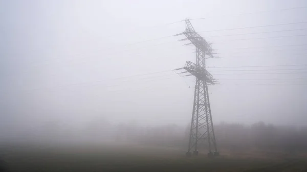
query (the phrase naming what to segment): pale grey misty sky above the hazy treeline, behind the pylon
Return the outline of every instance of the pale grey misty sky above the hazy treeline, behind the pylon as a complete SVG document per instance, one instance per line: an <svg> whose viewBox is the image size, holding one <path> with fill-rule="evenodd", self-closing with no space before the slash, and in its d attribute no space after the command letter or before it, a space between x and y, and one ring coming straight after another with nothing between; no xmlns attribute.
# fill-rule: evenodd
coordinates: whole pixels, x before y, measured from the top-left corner
<svg viewBox="0 0 307 172"><path fill-rule="evenodd" d="M185 18L222 57L206 61L221 82L209 87L214 123L305 125L307 66L242 67L307 64L297 7L307 1L0 1L1 130L102 118L188 125L195 78L170 70L195 50L168 37ZM235 29L274 24L284 25Z"/></svg>

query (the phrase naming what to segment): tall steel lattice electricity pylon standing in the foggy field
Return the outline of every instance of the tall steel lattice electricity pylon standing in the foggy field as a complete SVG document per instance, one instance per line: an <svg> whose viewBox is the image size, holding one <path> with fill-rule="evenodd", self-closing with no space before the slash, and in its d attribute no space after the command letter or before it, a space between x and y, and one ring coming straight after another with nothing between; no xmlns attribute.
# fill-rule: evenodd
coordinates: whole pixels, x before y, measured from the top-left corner
<svg viewBox="0 0 307 172"><path fill-rule="evenodd" d="M182 73L189 72L190 74L187 76L196 77L187 156L191 156L192 149L194 149L193 154L198 155L198 146L204 140L208 141L208 156L218 156L208 93L208 85L215 84L215 82L212 75L206 70L205 61L205 55L213 58L213 50L210 44L195 32L190 20L186 19L185 22L185 32L174 36L185 35L187 38L181 40L190 40L191 42L185 45L193 44L196 48L196 64L188 61L184 67L175 69L185 69L186 71Z"/></svg>

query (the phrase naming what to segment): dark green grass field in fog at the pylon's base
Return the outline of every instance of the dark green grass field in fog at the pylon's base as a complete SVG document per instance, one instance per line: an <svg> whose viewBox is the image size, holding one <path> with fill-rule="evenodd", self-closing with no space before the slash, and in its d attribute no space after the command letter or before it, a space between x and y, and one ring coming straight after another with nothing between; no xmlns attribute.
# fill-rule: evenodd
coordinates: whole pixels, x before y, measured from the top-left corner
<svg viewBox="0 0 307 172"><path fill-rule="evenodd" d="M305 155L221 151L186 157L183 149L140 145L2 146L8 171L307 171ZM2 169L4 171L4 169Z"/></svg>

